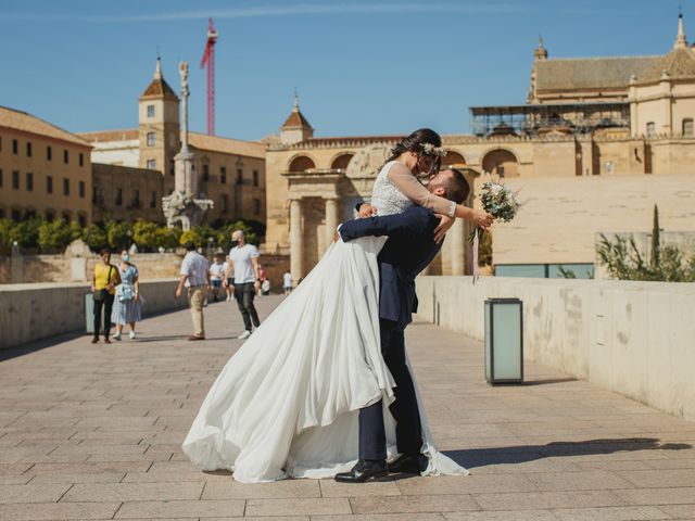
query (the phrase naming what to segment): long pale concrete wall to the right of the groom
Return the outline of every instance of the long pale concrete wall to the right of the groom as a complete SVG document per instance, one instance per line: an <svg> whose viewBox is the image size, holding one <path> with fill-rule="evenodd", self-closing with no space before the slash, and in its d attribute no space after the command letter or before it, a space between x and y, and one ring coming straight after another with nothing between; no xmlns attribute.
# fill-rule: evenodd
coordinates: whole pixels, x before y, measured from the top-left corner
<svg viewBox="0 0 695 521"><path fill-rule="evenodd" d="M523 301L526 357L695 420L695 284L419 277L418 316L483 340L483 303Z"/></svg>

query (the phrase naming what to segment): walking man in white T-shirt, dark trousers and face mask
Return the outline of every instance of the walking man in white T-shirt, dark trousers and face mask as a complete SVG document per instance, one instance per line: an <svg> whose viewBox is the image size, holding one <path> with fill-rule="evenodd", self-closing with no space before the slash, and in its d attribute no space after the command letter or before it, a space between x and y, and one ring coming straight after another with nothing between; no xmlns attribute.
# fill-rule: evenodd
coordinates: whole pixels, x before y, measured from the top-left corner
<svg viewBox="0 0 695 521"><path fill-rule="evenodd" d="M245 236L241 230L231 233L231 250L229 251L229 268L227 277L235 278L235 298L243 318L244 331L238 339L245 340L251 336L254 327L261 326L258 313L253 305L253 298L261 289L258 277L258 257L261 254L253 244L247 244Z"/></svg>

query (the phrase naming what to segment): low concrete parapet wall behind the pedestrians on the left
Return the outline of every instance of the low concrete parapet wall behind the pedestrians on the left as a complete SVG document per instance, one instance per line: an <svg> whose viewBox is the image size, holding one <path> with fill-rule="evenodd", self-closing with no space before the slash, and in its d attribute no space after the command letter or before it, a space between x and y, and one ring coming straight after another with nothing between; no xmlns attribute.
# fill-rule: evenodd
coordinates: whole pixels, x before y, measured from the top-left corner
<svg viewBox="0 0 695 521"><path fill-rule="evenodd" d="M144 316L186 307L176 300L176 279L140 282ZM0 350L85 330L85 293L89 284L38 283L0 285Z"/></svg>

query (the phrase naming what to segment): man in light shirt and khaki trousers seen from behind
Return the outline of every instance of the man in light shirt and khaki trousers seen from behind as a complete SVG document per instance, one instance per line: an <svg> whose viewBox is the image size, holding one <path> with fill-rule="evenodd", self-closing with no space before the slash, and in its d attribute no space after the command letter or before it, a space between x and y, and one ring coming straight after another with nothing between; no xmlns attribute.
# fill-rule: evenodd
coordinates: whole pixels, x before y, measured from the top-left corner
<svg viewBox="0 0 695 521"><path fill-rule="evenodd" d="M181 263L180 278L176 288L176 297L181 296L184 287L188 288L188 302L193 320L193 334L188 340L205 340L205 321L203 319L203 303L210 288L210 263L195 251L192 242L186 243L188 252Z"/></svg>

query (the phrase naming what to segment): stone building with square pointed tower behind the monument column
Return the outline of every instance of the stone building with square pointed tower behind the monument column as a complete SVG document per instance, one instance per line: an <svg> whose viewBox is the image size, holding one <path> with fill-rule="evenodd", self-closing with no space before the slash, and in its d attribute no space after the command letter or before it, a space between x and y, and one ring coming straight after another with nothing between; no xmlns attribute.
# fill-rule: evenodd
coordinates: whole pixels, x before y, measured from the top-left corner
<svg viewBox="0 0 695 521"><path fill-rule="evenodd" d="M164 221L162 196L174 189L174 156L181 145L181 128L179 99L164 79L159 59L154 77L138 100L138 123L137 128L80 135L92 145L92 162L111 165L111 168L99 167L94 196L101 207L97 214L149 219L144 215L156 209L157 218L149 220ZM205 221L250 219L265 223L265 144L198 132L188 136L199 190L214 202L213 208L205 213ZM159 175L161 188L153 182L150 173ZM124 213L125 203L116 204L118 192L105 194L112 190L122 190L121 201L124 198L140 201L140 206ZM155 191L156 208L149 206Z"/></svg>

